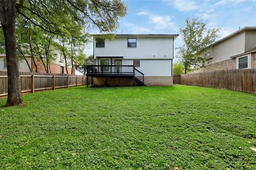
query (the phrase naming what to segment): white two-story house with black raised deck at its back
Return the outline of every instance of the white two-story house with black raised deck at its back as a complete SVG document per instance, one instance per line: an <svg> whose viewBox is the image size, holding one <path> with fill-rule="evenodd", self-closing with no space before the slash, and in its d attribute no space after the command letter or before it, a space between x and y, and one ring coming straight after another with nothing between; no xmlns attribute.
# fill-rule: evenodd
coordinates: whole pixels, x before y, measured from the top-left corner
<svg viewBox="0 0 256 170"><path fill-rule="evenodd" d="M179 35L94 35L93 86L172 85L174 40Z"/></svg>

